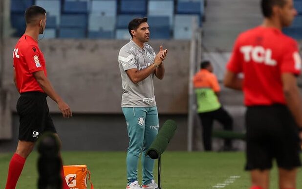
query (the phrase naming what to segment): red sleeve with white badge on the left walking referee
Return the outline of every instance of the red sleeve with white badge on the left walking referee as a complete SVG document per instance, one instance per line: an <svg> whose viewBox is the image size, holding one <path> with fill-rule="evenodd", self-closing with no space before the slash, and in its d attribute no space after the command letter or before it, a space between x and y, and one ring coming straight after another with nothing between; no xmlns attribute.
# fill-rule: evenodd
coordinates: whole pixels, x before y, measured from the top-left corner
<svg viewBox="0 0 302 189"><path fill-rule="evenodd" d="M30 73L43 70L43 67L40 63L40 56L39 47L37 46L32 45L26 50L24 59Z"/></svg>

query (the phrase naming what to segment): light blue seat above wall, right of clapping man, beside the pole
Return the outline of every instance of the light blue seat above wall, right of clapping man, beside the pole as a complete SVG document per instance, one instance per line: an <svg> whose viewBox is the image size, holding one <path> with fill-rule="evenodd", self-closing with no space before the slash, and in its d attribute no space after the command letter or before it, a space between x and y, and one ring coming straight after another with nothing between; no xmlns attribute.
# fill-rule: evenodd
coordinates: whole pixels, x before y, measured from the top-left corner
<svg viewBox="0 0 302 189"><path fill-rule="evenodd" d="M197 23L200 22L199 16L175 15L174 39L191 39L193 18L197 19Z"/></svg>

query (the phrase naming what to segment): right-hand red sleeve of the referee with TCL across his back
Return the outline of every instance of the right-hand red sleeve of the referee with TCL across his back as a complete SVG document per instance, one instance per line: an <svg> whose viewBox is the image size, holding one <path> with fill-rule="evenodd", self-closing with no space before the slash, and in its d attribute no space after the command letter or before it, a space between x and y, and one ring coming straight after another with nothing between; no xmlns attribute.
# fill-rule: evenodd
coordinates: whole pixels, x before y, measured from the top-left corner
<svg viewBox="0 0 302 189"><path fill-rule="evenodd" d="M281 73L294 73L299 75L302 66L301 56L298 50L298 44L295 40L290 40L284 46L283 55L280 62Z"/></svg>

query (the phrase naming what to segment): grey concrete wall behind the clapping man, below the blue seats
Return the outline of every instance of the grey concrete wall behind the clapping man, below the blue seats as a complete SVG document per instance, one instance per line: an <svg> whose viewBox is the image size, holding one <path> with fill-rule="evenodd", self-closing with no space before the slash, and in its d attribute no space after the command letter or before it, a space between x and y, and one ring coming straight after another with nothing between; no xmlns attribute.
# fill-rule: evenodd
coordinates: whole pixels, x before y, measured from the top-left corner
<svg viewBox="0 0 302 189"><path fill-rule="evenodd" d="M0 152L15 150L19 118L19 97L13 83L12 52L18 39L7 38L4 47L3 88L10 94L12 117L11 140L0 141ZM128 41L118 40L41 40L48 77L55 90L70 105L74 115L63 119L50 99L49 108L63 150L126 150L128 144L124 116L121 112L122 82L117 62L120 47ZM154 80L160 125L174 119L178 131L170 150L186 150L190 41L151 40L158 51L169 49L163 80Z"/></svg>

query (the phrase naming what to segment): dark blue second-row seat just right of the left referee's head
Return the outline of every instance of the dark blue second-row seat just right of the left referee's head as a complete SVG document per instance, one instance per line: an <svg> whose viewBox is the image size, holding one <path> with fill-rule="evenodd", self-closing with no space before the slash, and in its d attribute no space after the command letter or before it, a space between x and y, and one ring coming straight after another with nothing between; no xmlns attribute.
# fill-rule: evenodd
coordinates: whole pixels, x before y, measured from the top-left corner
<svg viewBox="0 0 302 189"><path fill-rule="evenodd" d="M60 27L86 28L86 14L63 14L61 16Z"/></svg>

